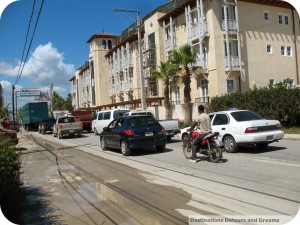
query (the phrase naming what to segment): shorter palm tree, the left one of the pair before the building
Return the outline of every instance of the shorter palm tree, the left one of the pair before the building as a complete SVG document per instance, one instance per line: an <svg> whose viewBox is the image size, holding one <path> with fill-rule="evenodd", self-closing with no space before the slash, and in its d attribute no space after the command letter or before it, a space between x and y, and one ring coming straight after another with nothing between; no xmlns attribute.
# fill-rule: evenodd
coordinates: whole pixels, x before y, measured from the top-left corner
<svg viewBox="0 0 300 225"><path fill-rule="evenodd" d="M169 60L160 62L159 70L153 70L151 76L162 80L164 84L164 104L166 109L166 119L172 118L170 102L170 81L175 81L176 67Z"/></svg>

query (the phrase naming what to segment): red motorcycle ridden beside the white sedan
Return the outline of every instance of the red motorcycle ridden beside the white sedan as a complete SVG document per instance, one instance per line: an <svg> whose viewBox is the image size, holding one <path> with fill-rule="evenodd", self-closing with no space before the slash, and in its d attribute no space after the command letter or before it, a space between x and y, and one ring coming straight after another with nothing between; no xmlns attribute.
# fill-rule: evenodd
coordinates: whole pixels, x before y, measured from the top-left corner
<svg viewBox="0 0 300 225"><path fill-rule="evenodd" d="M199 132L191 131L189 136L183 138L183 154L187 159L192 158L192 144L195 138L198 136ZM222 159L222 146L218 141L219 132L209 132L202 139L198 151L200 153L208 156L210 162L218 163Z"/></svg>

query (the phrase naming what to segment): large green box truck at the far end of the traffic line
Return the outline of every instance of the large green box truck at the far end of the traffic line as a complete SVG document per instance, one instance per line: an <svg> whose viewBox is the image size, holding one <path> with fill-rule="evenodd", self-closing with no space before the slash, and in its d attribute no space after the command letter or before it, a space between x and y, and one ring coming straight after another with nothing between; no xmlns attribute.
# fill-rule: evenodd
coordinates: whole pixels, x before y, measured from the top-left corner
<svg viewBox="0 0 300 225"><path fill-rule="evenodd" d="M39 123L49 118L47 102L29 102L22 107L22 124L27 131L38 131Z"/></svg>

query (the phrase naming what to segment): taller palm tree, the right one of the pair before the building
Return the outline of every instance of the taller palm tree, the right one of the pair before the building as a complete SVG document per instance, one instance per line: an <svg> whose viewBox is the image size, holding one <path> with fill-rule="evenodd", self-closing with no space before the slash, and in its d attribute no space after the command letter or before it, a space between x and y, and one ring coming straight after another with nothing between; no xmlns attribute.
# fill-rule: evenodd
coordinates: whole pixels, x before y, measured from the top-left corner
<svg viewBox="0 0 300 225"><path fill-rule="evenodd" d="M202 72L201 67L194 66L197 61L198 51L193 50L189 44L185 44L173 50L171 62L176 65L177 72L184 84L184 123L188 124L192 120L191 108L191 77L194 72Z"/></svg>

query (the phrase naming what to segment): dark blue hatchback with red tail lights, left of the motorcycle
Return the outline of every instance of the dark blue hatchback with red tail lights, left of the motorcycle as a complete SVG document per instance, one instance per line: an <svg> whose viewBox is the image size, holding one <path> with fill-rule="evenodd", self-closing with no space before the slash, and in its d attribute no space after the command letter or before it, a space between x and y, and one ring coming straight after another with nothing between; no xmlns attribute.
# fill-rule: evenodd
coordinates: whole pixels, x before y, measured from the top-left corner
<svg viewBox="0 0 300 225"><path fill-rule="evenodd" d="M107 148L121 149L128 156L132 149L155 146L157 151L164 151L167 144L165 129L153 116L123 116L104 127L100 134L100 145Z"/></svg>

